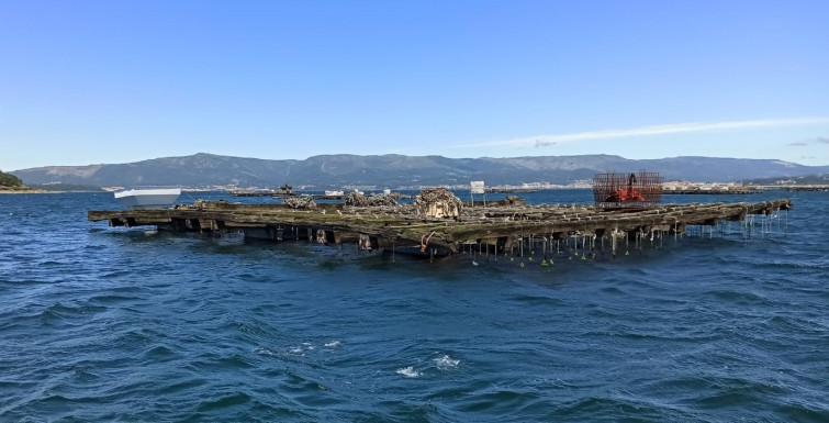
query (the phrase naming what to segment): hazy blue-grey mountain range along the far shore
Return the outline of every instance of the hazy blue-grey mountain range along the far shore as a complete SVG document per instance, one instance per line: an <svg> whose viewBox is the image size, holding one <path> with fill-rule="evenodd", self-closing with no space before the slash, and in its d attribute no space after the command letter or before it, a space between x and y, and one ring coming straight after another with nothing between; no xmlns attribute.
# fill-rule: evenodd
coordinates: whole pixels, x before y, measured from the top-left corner
<svg viewBox="0 0 829 423"><path fill-rule="evenodd" d="M765 159L673 157L634 160L610 155L511 158L447 158L441 156L313 156L304 160L268 160L199 153L127 164L48 166L15 170L26 185L89 187L276 188L283 183L316 189L347 186L402 188L549 182L569 185L592 180L596 172L658 171L665 180L733 182L757 178L829 174L829 166L803 166Z"/></svg>

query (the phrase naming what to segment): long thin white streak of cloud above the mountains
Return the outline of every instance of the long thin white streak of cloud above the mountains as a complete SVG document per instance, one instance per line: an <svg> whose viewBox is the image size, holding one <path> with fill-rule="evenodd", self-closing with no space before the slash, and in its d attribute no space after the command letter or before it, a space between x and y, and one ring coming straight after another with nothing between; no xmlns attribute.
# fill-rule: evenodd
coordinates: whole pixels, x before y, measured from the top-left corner
<svg viewBox="0 0 829 423"><path fill-rule="evenodd" d="M731 122L673 123L673 124L668 124L668 125L641 126L641 127L635 127L635 129L629 129L629 130L606 130L606 131L578 132L573 134L536 135L536 136L528 136L528 137L523 137L523 138L495 141L495 142L490 142L490 143L466 144L466 145L459 145L458 147L526 147L526 146L545 147L549 145L554 145L554 144L560 144L560 143L571 143L571 142L578 142L578 141L623 138L623 137L629 137L629 136L648 136L648 135L755 129L755 127L770 127L770 126L796 126L796 125L807 125L807 124L816 124L816 123L829 123L829 118L795 118L795 119L766 119L766 120L731 121Z"/></svg>

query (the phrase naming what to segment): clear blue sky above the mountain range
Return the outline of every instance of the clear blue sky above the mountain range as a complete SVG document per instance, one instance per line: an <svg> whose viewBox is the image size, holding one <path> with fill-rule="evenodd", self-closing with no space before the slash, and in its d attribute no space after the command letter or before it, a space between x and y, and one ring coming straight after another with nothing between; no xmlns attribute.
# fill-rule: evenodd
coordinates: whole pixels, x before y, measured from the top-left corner
<svg viewBox="0 0 829 423"><path fill-rule="evenodd" d="M4 1L0 169L194 153L829 165L829 1Z"/></svg>

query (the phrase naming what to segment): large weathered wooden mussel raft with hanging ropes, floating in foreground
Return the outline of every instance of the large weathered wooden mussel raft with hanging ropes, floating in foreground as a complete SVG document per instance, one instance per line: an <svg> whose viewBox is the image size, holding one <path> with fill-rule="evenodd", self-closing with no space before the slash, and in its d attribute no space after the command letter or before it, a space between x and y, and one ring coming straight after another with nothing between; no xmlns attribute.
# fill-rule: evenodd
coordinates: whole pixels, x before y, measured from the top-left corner
<svg viewBox="0 0 829 423"><path fill-rule="evenodd" d="M422 254L446 254L464 246L486 245L500 253L523 240L634 238L643 234L683 234L688 225L744 221L753 214L773 215L791 210L789 199L758 203L660 204L608 209L586 204L466 207L458 219L427 219L412 204L358 208L320 204L295 210L284 204L238 204L197 201L172 209L89 211L90 221L110 226L153 225L177 232L243 232L246 238L312 240L358 243L362 249L408 248ZM594 237L595 236L595 237ZM428 252L428 253L427 253Z"/></svg>

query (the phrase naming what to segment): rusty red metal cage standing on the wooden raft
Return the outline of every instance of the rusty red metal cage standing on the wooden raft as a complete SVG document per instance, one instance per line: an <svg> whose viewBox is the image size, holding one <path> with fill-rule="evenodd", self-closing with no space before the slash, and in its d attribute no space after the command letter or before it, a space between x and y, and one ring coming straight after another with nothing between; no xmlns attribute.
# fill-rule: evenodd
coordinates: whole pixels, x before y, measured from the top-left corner
<svg viewBox="0 0 829 423"><path fill-rule="evenodd" d="M600 207L645 207L662 201L662 177L659 172L596 174L593 198Z"/></svg>

